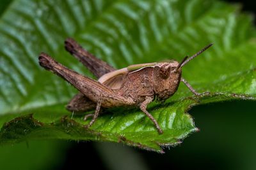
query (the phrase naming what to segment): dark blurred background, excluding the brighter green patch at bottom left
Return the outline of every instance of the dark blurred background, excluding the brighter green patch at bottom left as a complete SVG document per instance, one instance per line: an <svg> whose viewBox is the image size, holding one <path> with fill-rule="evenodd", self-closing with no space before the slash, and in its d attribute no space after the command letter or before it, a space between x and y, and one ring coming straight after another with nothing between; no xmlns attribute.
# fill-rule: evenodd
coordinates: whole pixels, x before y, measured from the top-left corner
<svg viewBox="0 0 256 170"><path fill-rule="evenodd" d="M242 4L243 12L255 16L255 1L228 2ZM163 155L115 143L72 143L60 169L91 162L99 162L93 169L256 169L255 102L207 104L189 113L201 131L165 148Z"/></svg>

